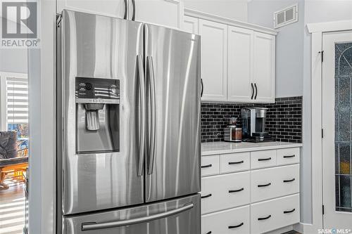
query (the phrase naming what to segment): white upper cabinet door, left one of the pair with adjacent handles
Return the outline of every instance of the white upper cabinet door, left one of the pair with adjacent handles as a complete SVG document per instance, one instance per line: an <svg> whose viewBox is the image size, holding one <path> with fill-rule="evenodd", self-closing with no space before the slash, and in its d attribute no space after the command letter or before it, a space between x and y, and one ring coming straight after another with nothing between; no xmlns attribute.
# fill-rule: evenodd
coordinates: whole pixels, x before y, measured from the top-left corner
<svg viewBox="0 0 352 234"><path fill-rule="evenodd" d="M227 33L227 100L251 102L253 30L229 26Z"/></svg>

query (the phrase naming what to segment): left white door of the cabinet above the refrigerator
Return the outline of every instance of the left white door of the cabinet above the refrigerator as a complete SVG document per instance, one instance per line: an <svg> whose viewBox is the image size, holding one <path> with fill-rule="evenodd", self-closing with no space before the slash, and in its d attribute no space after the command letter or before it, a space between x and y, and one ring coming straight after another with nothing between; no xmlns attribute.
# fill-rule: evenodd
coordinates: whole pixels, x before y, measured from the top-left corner
<svg viewBox="0 0 352 234"><path fill-rule="evenodd" d="M127 2L127 5L128 5L128 2ZM69 9L73 11L83 11L86 13L123 18L123 16L125 15L125 1L124 0L116 0L116 1L57 0L58 13L61 13L63 9Z"/></svg>

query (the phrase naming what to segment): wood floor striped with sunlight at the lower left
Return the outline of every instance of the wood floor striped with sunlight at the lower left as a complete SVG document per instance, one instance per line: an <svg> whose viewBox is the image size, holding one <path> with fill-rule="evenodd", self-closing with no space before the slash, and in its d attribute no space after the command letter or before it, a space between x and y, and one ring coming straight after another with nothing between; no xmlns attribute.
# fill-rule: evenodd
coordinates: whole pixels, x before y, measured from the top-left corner
<svg viewBox="0 0 352 234"><path fill-rule="evenodd" d="M22 234L25 219L23 183L11 178L5 183L10 188L0 190L0 234Z"/></svg>

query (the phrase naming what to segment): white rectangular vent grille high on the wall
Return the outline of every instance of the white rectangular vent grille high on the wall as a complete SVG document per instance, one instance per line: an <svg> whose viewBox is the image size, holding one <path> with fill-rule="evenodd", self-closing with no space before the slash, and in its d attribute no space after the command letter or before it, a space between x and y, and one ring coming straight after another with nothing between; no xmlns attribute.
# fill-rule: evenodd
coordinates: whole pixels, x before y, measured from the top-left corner
<svg viewBox="0 0 352 234"><path fill-rule="evenodd" d="M289 6L274 13L274 28L290 25L298 21L298 4Z"/></svg>

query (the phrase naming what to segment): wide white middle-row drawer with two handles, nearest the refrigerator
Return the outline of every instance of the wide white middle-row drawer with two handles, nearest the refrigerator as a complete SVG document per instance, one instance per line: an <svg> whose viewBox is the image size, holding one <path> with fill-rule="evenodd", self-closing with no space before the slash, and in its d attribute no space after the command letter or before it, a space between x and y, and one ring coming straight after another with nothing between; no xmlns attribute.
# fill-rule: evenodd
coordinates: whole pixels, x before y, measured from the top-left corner
<svg viewBox="0 0 352 234"><path fill-rule="evenodd" d="M201 178L202 214L250 202L249 171Z"/></svg>

